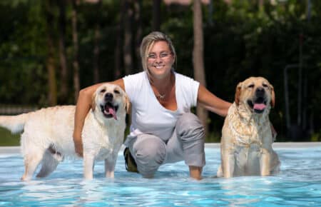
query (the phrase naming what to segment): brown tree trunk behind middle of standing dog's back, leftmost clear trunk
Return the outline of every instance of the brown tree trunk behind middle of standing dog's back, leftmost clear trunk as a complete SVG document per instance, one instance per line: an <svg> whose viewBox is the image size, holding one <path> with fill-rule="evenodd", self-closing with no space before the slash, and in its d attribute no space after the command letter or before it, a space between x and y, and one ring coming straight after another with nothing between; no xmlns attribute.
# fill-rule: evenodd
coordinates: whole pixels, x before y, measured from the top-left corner
<svg viewBox="0 0 321 207"><path fill-rule="evenodd" d="M52 25L54 23L54 14L51 8L53 7L51 0L45 2L46 6L46 32L47 32L47 59L46 66L48 70L48 82L49 82L49 106L55 106L57 104L57 84L56 84L56 69L54 65L54 40L52 37L53 30Z"/></svg>

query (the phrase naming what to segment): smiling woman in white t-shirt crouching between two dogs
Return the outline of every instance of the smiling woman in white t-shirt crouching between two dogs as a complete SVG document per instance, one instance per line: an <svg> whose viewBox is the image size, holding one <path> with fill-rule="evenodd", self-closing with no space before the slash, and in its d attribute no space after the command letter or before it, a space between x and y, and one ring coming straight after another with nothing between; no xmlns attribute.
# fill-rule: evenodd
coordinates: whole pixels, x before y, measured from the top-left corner
<svg viewBox="0 0 321 207"><path fill-rule="evenodd" d="M165 34L152 32L141 43L143 72L111 82L131 100L131 133L124 143L143 177L151 178L164 163L185 161L190 177L201 178L205 165L204 130L190 107L200 104L226 116L230 103L219 99L197 81L175 73L175 49ZM81 131L100 84L79 93L73 140L82 156Z"/></svg>

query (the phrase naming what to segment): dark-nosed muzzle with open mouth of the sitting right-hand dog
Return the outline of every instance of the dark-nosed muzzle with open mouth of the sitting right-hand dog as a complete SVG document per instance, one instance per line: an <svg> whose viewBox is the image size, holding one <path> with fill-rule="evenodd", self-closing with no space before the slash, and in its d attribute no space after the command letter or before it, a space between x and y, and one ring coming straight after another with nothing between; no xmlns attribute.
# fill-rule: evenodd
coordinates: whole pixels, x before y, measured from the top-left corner
<svg viewBox="0 0 321 207"><path fill-rule="evenodd" d="M255 113L263 113L267 106L265 89L261 87L256 89L254 99L248 99L248 106L253 108Z"/></svg>

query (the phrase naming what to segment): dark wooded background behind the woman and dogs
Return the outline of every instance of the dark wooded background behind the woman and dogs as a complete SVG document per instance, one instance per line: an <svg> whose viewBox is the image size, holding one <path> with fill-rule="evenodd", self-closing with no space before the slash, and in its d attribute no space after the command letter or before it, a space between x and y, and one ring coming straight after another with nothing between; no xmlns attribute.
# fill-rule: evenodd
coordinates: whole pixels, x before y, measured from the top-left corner
<svg viewBox="0 0 321 207"><path fill-rule="evenodd" d="M175 70L222 99L248 76L268 79L277 141L321 141L317 0L1 0L0 114L75 104L83 87L141 71L155 30L172 39ZM223 118L193 111L220 141ZM0 128L0 145L18 144Z"/></svg>

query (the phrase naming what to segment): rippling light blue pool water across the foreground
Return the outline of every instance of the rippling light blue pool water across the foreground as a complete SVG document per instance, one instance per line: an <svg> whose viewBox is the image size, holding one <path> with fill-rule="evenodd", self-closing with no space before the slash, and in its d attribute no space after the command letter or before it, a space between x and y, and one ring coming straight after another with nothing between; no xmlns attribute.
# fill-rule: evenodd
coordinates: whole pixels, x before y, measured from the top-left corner
<svg viewBox="0 0 321 207"><path fill-rule="evenodd" d="M128 173L122 152L115 178L83 180L81 161L63 161L47 178L21 182L19 154L0 156L0 206L321 206L321 148L275 148L277 176L215 178L218 148L205 148L204 179L188 178L183 162L161 166L153 179Z"/></svg>

